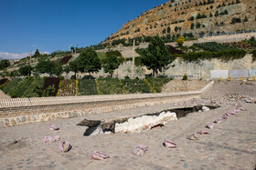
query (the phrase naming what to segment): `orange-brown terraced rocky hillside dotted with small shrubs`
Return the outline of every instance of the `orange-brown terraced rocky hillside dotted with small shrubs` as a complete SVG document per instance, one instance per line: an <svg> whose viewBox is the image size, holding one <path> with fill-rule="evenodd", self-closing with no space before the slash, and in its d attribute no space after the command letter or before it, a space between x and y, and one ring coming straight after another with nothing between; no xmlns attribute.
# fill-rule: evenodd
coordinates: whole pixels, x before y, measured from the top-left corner
<svg viewBox="0 0 256 170"><path fill-rule="evenodd" d="M195 36L256 29L255 0L171 0L123 25L104 43L133 36Z"/></svg>

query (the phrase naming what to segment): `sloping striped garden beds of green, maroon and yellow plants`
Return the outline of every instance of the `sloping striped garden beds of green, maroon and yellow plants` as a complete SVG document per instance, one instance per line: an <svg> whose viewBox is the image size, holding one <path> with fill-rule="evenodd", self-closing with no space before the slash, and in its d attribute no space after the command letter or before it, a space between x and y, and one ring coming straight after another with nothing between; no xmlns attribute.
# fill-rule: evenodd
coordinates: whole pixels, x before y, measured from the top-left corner
<svg viewBox="0 0 256 170"><path fill-rule="evenodd" d="M161 93L170 78L117 79L66 79L56 77L27 77L5 80L1 89L11 97L74 96L74 95L119 95Z"/></svg>

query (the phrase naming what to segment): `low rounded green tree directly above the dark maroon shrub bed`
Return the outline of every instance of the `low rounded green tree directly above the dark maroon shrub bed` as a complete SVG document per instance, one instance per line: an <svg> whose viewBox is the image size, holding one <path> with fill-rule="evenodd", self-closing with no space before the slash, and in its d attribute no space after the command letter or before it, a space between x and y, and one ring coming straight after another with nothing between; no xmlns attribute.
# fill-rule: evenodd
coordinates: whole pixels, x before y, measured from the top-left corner
<svg viewBox="0 0 256 170"><path fill-rule="evenodd" d="M45 74L53 75L55 69L55 65L50 60L42 60L40 59L39 62L36 65L36 71L39 74Z"/></svg>

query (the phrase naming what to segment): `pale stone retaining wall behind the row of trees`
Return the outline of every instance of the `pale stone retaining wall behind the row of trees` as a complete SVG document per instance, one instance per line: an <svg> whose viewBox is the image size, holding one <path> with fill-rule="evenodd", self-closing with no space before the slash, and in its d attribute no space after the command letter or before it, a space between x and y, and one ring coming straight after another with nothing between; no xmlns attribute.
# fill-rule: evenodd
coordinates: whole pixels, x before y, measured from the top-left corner
<svg viewBox="0 0 256 170"><path fill-rule="evenodd" d="M208 79L210 78L210 72L211 70L253 70L256 69L256 62L252 63L252 55L248 54L245 55L243 58L238 60L233 60L229 62L223 62L218 59L212 59L210 61L204 60L200 63L187 63L182 61L181 59L176 59L172 65L175 65L174 67L170 66L168 70L165 70L165 75L173 76L173 77L179 77L182 78L183 75L188 75L189 78L198 79L198 78L204 78ZM132 62L126 62L123 65L120 65L118 69L115 70L113 76L123 78L126 75L131 76L131 67ZM136 67L135 68L135 77L144 78L145 74L151 74L151 70L147 70L146 67ZM163 73L164 74L164 73ZM73 74L69 74L73 75ZM79 74L79 77L82 77L84 75L88 74ZM99 74L93 74L95 77L99 76L107 76L108 74L105 74L103 72L103 69L101 69Z"/></svg>

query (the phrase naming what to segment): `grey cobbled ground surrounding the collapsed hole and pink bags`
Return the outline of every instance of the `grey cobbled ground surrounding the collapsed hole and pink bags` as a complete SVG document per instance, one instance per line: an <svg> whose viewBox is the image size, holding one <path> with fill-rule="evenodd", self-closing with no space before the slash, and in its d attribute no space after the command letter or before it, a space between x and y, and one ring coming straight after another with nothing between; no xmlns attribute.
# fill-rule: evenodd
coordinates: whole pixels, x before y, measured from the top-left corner
<svg viewBox="0 0 256 170"><path fill-rule="evenodd" d="M256 86L217 84L202 98L239 93L256 96ZM200 100L204 103L206 100ZM85 117L76 117L31 125L0 129L0 169L254 169L256 165L256 104L240 102L247 111L240 111L211 130L205 125L235 108L238 101L228 102L215 110L192 113L163 128L155 128L133 135L83 136L85 127L77 126ZM88 119L108 119L113 116L150 113L171 105L138 108L123 113L87 115ZM60 130L49 131L48 124ZM199 135L191 141L187 135L198 130L208 130L209 135ZM46 135L59 135L72 145L68 153L59 151L59 142L44 144ZM163 146L165 138L176 143L170 149ZM17 141L14 143L14 141ZM132 154L133 148L143 144L148 151L143 156ZM100 150L111 155L109 159L91 159L92 152Z"/></svg>

